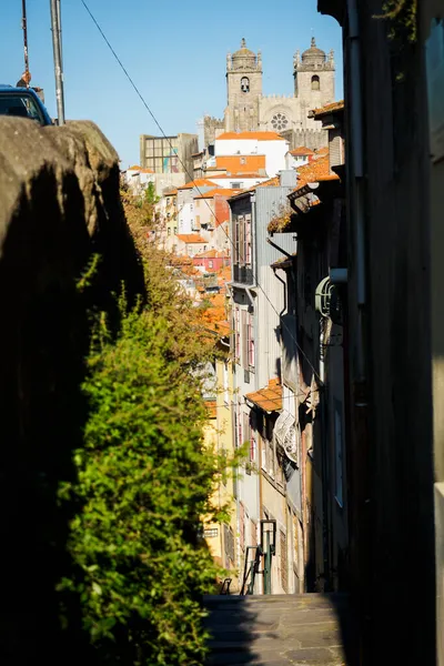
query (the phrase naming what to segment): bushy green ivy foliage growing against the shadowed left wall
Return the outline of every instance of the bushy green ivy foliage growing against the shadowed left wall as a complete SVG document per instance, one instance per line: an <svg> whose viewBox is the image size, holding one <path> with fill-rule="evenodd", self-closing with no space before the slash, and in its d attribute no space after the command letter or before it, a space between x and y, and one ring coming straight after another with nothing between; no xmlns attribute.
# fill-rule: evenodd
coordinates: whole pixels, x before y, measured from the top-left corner
<svg viewBox="0 0 444 666"><path fill-rule="evenodd" d="M74 573L59 592L67 608L81 599L95 663L198 666L205 655L201 597L219 573L201 517L224 517L210 497L226 465L204 445L202 377L193 372L211 345L162 254L143 250L137 221L147 229L145 204L128 199L124 206L148 302L129 311L122 296L117 332L104 314L97 317L78 478L59 493L61 504L78 507L68 544Z"/></svg>

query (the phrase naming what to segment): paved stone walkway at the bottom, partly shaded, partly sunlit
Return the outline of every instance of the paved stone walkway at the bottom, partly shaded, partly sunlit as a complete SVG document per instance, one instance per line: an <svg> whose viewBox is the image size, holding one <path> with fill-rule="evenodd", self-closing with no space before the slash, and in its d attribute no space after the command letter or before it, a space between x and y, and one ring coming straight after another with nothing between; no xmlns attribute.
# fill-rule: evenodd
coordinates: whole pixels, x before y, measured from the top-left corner
<svg viewBox="0 0 444 666"><path fill-rule="evenodd" d="M355 666L345 595L208 596L208 666Z"/></svg>

